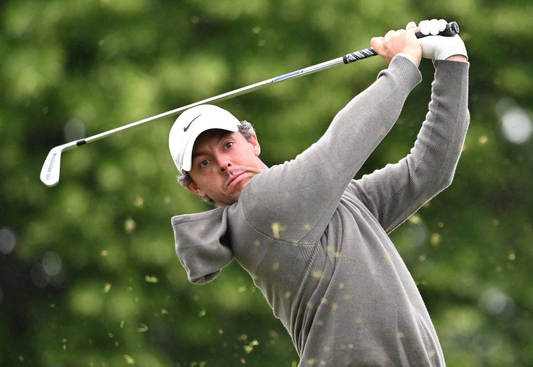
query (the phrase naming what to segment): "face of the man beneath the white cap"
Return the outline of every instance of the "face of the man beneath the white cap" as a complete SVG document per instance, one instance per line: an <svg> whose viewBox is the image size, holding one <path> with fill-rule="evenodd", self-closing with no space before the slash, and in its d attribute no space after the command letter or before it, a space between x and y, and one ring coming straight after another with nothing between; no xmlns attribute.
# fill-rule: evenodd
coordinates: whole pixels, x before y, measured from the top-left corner
<svg viewBox="0 0 533 367"><path fill-rule="evenodd" d="M240 132L207 130L199 135L192 149L189 175L191 192L208 196L219 205L231 205L240 192L266 166L259 159L261 148L254 134L250 141Z"/></svg>

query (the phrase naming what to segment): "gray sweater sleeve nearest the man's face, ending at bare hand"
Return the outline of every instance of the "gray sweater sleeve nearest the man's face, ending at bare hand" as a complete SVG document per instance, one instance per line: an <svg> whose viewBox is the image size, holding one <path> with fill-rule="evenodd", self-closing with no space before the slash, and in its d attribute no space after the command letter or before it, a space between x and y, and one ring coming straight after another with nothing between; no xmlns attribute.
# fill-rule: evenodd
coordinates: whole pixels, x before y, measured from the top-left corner
<svg viewBox="0 0 533 367"><path fill-rule="evenodd" d="M324 135L295 159L256 175L239 201L249 224L280 241L316 243L354 175L390 131L421 81L395 57L376 82L352 99Z"/></svg>

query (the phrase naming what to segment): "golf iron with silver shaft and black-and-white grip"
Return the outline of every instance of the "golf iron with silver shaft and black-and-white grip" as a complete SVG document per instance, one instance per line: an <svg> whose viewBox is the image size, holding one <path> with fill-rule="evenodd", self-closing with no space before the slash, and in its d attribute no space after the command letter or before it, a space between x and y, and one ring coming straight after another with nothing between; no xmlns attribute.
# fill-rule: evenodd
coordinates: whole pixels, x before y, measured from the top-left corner
<svg viewBox="0 0 533 367"><path fill-rule="evenodd" d="M450 22L446 25L446 29L441 31L439 35L453 36L458 33L459 33L459 26L457 25L457 23ZM422 33L417 33L416 37L422 38L422 37L425 37L425 35L423 35ZM195 102L195 103L191 103L190 105L179 107L179 108L167 111L165 113L161 113L159 115L144 118L142 120L133 122L131 124L117 127L116 129L112 129L112 130L105 131L105 132L102 132L96 135L92 135L91 137L88 137L85 139L75 140L75 141L65 143L63 145L56 146L52 148L52 150L50 150L50 153L48 154L48 156L46 157L44 161L43 168L41 170L41 181L43 181L43 184L45 184L46 186L55 186L58 184L59 169L60 169L60 164L61 164L61 153L63 153L63 151L70 150L70 149L85 145L86 143L90 143L95 140L108 137L109 135L115 134L117 132L130 129L130 127L134 127L134 126L138 126L138 125L141 125L147 122L155 121L163 117L175 116L186 109L189 109L189 108L192 108L198 105L204 105L205 103L212 103L215 101L222 101L224 99L237 97L237 95L255 91L266 85L270 85L270 84L285 81L288 79L316 73L317 71L324 70L324 69L327 69L333 66L341 65L342 63L348 64L348 63L352 63L358 60L367 59L375 55L377 55L377 53L372 49L372 47L369 47L368 49L346 54L340 58L318 63L317 65L313 65L313 66L310 66L310 67L307 67L301 70L293 71L292 73L280 75L278 77L271 78L271 79L266 79L265 81L251 84L245 87L241 87L231 92L219 94L219 95L216 95L215 97L211 97L211 98L207 98L207 99Z"/></svg>

